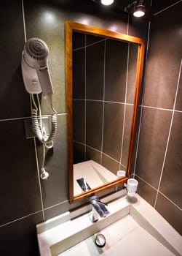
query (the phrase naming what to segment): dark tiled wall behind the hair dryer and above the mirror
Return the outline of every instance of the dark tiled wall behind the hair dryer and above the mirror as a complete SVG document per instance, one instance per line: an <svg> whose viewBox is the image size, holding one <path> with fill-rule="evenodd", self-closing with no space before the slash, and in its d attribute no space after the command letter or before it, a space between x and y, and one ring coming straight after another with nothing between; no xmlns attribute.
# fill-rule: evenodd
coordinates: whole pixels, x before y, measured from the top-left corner
<svg viewBox="0 0 182 256"><path fill-rule="evenodd" d="M68 3L68 5L67 5ZM146 39L148 22L129 19L95 3L83 1L7 0L0 4L0 252L1 255L39 255L36 224L76 207L68 203L67 126L65 88L65 21L88 23ZM94 15L92 15L94 13ZM20 70L25 40L40 37L50 48L50 73L58 111L58 134L47 153L47 181L40 181L42 148L25 138L24 121L31 116L31 102ZM51 113L41 100L42 113ZM81 202L82 203L82 202Z"/></svg>

